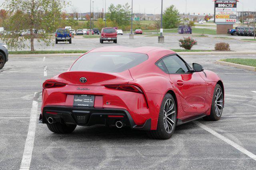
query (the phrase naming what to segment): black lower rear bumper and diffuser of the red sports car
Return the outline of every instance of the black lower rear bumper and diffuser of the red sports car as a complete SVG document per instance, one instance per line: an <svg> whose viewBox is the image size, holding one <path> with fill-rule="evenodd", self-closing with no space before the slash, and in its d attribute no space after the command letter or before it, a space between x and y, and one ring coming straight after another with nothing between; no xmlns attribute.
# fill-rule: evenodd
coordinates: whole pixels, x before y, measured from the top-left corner
<svg viewBox="0 0 256 170"><path fill-rule="evenodd" d="M42 114L40 114L39 122L47 123L48 117L52 117L54 123L91 126L115 125L116 121L122 121L132 129L151 129L151 119L147 119L143 125L136 125L126 109L52 105L44 107Z"/></svg>

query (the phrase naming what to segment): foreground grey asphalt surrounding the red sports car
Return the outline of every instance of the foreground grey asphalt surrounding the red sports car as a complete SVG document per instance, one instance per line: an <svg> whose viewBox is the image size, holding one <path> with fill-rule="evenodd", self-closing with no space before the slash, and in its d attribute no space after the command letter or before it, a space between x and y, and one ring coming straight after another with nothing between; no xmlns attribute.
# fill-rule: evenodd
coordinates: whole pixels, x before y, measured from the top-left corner
<svg viewBox="0 0 256 170"><path fill-rule="evenodd" d="M222 78L224 111L220 121L176 127L165 141L148 139L143 131L99 125L77 127L68 135L50 132L37 118L42 82L64 72L77 57L10 58L0 70L0 168L28 168L31 160L31 169L254 169L256 72L214 63L230 57L256 55L183 56Z"/></svg>

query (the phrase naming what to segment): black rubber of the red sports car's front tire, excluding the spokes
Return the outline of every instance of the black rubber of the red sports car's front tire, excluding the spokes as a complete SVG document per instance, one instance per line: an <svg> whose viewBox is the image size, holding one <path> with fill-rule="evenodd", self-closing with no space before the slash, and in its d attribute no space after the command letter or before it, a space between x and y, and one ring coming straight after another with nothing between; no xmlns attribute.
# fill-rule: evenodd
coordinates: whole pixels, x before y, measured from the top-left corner
<svg viewBox="0 0 256 170"><path fill-rule="evenodd" d="M221 92L222 92L222 109L221 109L221 113L218 115L218 113L216 113L216 93L217 93L217 90L218 89L221 89ZM214 94L213 94L213 97L212 97L212 106L211 106L211 113L210 115L204 117L204 120L207 120L207 121L217 121L220 119L221 115L222 115L222 110L223 110L223 89L221 88L221 86L219 84L216 84L215 88L214 88Z"/></svg>

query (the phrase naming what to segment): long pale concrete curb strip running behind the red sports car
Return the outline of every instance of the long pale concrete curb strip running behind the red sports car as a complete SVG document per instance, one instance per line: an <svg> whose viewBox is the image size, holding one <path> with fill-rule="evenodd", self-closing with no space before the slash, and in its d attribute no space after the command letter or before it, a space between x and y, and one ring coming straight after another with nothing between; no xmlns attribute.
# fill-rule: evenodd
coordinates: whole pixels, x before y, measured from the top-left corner
<svg viewBox="0 0 256 170"><path fill-rule="evenodd" d="M10 54L12 57L80 57L84 53L58 53L58 54ZM256 54L256 50L252 51L205 51L205 52L178 52L179 55L243 55Z"/></svg>

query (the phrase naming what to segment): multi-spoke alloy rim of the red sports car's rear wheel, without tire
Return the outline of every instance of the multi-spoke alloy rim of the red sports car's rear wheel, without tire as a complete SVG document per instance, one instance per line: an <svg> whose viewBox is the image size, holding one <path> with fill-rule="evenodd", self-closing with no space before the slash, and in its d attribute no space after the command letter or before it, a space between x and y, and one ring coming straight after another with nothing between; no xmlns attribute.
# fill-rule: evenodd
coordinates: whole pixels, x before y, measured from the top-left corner
<svg viewBox="0 0 256 170"><path fill-rule="evenodd" d="M172 133L176 123L176 109L172 99L167 99L164 104L164 129Z"/></svg>

